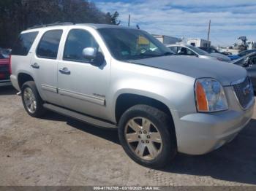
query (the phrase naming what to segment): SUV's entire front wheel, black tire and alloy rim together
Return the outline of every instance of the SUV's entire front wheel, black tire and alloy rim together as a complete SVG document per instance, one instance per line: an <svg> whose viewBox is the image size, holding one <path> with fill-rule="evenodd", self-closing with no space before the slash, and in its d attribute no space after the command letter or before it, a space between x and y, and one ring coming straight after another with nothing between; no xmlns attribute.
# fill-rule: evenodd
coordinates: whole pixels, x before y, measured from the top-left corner
<svg viewBox="0 0 256 191"><path fill-rule="evenodd" d="M127 109L118 123L118 137L127 155L149 168L164 167L177 152L173 122L165 112L152 106Z"/></svg>

